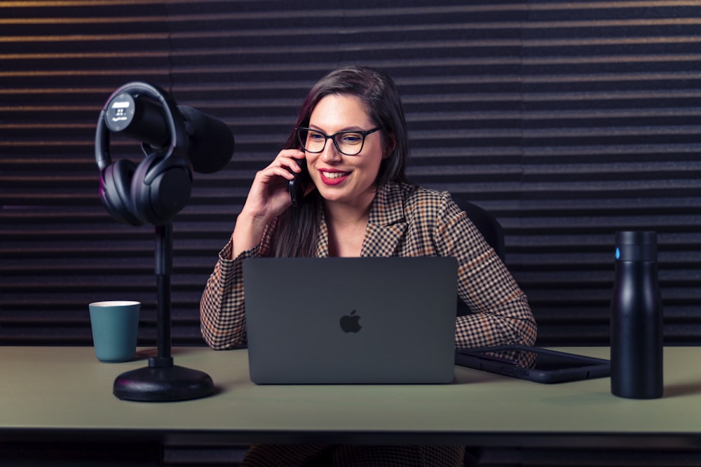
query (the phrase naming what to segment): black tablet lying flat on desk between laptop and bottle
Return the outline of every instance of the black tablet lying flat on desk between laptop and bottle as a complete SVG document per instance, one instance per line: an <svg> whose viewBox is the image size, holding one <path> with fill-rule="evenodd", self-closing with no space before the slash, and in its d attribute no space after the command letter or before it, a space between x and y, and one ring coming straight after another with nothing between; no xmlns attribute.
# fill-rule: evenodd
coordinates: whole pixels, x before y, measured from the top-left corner
<svg viewBox="0 0 701 467"><path fill-rule="evenodd" d="M455 363L538 383L611 376L611 362L603 358L523 345L458 349Z"/></svg>

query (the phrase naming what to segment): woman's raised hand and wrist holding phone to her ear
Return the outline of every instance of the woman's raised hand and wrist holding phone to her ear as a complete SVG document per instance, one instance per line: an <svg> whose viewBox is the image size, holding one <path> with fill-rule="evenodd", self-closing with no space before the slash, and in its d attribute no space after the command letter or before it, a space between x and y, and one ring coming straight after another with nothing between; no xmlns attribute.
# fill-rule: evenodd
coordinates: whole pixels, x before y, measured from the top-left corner
<svg viewBox="0 0 701 467"><path fill-rule="evenodd" d="M257 172L233 230L232 258L260 243L265 226L292 206L287 183L301 172L304 152L283 149L268 167Z"/></svg>

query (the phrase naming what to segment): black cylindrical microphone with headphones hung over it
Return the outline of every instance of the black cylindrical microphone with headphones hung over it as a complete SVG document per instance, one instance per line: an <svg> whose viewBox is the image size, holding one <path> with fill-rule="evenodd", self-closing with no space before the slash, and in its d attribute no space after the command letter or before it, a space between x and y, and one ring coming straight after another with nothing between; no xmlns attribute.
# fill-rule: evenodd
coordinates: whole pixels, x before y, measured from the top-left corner
<svg viewBox="0 0 701 467"><path fill-rule="evenodd" d="M153 148L170 143L163 109L147 97L121 92L106 109L104 122L112 132L122 132ZM188 136L187 158L192 169L200 174L213 174L226 167L234 149L233 134L226 123L192 107L177 106L177 110Z"/></svg>

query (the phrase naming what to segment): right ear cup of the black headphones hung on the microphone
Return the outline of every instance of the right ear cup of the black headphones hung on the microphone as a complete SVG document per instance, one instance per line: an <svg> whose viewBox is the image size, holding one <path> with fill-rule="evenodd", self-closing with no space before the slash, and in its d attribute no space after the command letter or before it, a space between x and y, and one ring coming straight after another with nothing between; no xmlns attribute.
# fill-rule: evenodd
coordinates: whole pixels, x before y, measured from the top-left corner
<svg viewBox="0 0 701 467"><path fill-rule="evenodd" d="M192 190L192 175L186 165L163 162L163 156L150 155L137 167L130 197L135 213L143 223L164 225L186 206ZM157 174L151 172L158 171ZM146 183L147 177L153 179Z"/></svg>

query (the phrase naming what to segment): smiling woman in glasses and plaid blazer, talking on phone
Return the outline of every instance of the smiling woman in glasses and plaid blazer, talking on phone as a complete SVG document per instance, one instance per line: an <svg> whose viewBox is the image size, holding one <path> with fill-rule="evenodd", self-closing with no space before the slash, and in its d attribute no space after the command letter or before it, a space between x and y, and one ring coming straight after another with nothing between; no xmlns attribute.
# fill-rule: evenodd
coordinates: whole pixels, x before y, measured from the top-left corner
<svg viewBox="0 0 701 467"><path fill-rule="evenodd" d="M404 112L388 75L343 67L322 78L283 151L256 174L219 253L200 303L207 344L229 349L245 342L242 267L252 256L454 256L457 292L472 311L456 319L456 347L533 344L536 323L526 296L448 193L407 183L408 155ZM291 207L287 183L302 171L302 160L311 183L299 207ZM295 459L304 463L320 452L308 449L299 447L304 454ZM332 454L341 463L346 455L358 458L358 449ZM391 449L399 449L395 459L408 449L407 459L426 465L448 465L461 456L457 447ZM287 465L291 450L283 449L290 454ZM250 461L277 452L255 451Z"/></svg>

